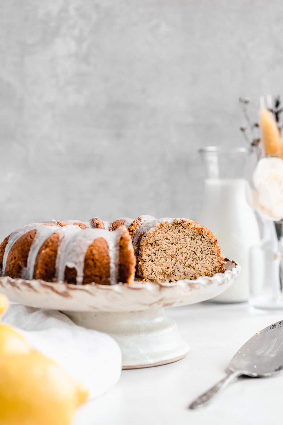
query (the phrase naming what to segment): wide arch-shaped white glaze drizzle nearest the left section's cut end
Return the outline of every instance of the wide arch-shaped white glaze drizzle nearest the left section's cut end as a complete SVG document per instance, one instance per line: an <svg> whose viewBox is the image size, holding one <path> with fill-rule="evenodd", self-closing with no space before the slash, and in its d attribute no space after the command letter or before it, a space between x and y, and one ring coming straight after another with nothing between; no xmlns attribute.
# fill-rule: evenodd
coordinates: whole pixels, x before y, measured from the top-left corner
<svg viewBox="0 0 283 425"><path fill-rule="evenodd" d="M63 228L64 229L64 228ZM62 229L62 230L63 230ZM118 279L118 263L119 263L119 241L125 228L119 227L114 232L108 232L104 229L86 229L83 232L76 232L73 235L64 235L61 244L62 248L58 249L59 261L56 262L56 276L59 282L64 281L64 273L66 266L70 269L75 268L76 283L81 285L84 278L84 258L89 246L97 238L104 238L108 245L109 253L109 283L113 285ZM59 246L60 248L60 246Z"/></svg>

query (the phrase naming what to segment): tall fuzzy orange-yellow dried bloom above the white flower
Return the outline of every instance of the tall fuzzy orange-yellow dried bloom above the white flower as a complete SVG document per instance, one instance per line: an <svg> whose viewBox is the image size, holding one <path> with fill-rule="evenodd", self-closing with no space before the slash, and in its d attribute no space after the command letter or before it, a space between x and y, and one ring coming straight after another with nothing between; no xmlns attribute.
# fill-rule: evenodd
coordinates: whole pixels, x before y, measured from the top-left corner
<svg viewBox="0 0 283 425"><path fill-rule="evenodd" d="M264 108L261 109L260 117L265 152L269 156L277 156L281 151L281 136L275 119Z"/></svg>

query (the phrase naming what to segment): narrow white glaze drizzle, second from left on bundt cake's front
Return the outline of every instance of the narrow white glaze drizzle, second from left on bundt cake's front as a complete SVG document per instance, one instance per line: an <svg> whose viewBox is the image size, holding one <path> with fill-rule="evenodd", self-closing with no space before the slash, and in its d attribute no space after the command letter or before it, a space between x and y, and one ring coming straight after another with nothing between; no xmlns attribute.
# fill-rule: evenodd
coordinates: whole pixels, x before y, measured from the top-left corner
<svg viewBox="0 0 283 425"><path fill-rule="evenodd" d="M58 231L58 226L40 226L36 229L36 235L34 236L34 240L28 252L27 266L22 270L22 278L31 280L34 277L34 264L39 249L53 233Z"/></svg>

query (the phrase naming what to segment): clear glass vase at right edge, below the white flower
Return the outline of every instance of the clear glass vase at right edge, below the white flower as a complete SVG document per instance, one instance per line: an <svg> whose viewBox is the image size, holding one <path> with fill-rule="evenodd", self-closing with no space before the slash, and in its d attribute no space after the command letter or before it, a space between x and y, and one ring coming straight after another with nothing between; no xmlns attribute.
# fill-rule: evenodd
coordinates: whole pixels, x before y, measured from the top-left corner
<svg viewBox="0 0 283 425"><path fill-rule="evenodd" d="M257 309L283 309L283 221L265 221L250 251L250 298Z"/></svg>

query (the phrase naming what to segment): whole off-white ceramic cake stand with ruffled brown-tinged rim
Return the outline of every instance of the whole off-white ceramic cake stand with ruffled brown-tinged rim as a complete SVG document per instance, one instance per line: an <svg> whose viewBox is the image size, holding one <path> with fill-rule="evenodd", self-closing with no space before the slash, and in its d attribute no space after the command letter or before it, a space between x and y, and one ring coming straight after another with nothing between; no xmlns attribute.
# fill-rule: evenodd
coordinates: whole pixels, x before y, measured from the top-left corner
<svg viewBox="0 0 283 425"><path fill-rule="evenodd" d="M199 303L225 291L241 270L226 261L224 273L174 283L73 285L5 276L0 292L16 303L60 310L78 325L106 332L121 348L123 369L143 368L185 357L190 347L164 307Z"/></svg>

